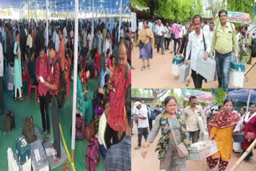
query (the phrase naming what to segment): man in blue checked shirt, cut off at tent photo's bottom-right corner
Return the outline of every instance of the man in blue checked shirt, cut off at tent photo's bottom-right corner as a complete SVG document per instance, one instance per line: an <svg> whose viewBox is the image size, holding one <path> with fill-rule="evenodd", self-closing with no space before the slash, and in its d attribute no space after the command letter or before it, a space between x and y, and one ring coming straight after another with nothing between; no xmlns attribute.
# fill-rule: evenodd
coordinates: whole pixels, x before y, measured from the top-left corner
<svg viewBox="0 0 256 171"><path fill-rule="evenodd" d="M131 105L131 104L130 104ZM116 145L111 145L106 153L104 171L109 170L131 170L131 106L126 106L126 136Z"/></svg>

